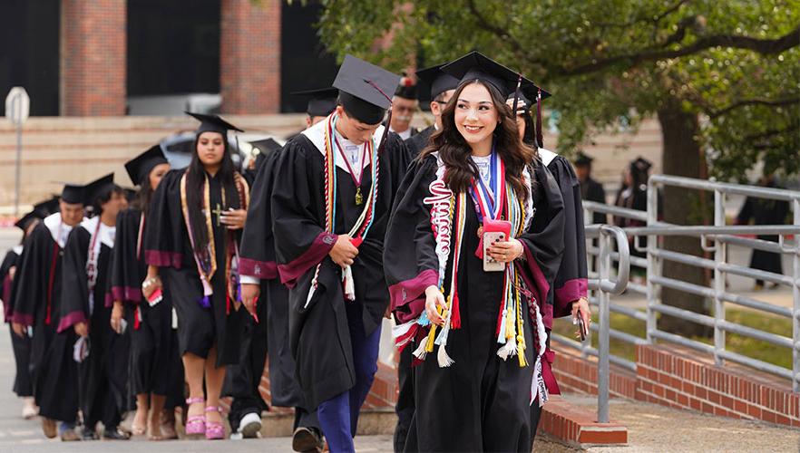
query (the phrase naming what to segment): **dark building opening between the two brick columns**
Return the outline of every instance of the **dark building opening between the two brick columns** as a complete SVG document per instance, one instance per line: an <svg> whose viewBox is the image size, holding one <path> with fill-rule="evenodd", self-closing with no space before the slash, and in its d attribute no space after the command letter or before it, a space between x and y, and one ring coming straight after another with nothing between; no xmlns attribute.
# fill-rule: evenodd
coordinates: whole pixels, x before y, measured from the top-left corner
<svg viewBox="0 0 800 453"><path fill-rule="evenodd" d="M220 92L220 0L128 0L128 95Z"/></svg>

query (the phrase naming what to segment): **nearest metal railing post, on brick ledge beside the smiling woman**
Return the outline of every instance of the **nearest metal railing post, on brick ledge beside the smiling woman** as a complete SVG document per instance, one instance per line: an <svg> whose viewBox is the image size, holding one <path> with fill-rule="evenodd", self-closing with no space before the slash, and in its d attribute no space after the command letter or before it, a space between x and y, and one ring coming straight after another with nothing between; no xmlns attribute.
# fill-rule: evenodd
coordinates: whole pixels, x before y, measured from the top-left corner
<svg viewBox="0 0 800 453"><path fill-rule="evenodd" d="M597 371L597 420L609 422L609 381L610 381L610 294L602 288L602 282L610 279L611 250L608 233L600 228L600 289L597 292L600 304L598 313L598 371Z"/></svg>

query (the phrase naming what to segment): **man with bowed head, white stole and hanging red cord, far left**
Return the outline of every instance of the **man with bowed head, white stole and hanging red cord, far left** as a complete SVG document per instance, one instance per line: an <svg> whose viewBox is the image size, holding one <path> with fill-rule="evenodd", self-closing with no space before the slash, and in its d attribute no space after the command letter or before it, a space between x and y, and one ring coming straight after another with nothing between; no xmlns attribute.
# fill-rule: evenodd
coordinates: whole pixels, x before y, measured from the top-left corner
<svg viewBox="0 0 800 453"><path fill-rule="evenodd" d="M31 378L44 436L80 439L74 431L78 412L78 367L73 361L74 333L57 334L61 323L63 247L83 220L83 186L64 186L59 210L44 217L25 239L17 265L12 328L31 338ZM56 420L61 421L56 431Z"/></svg>

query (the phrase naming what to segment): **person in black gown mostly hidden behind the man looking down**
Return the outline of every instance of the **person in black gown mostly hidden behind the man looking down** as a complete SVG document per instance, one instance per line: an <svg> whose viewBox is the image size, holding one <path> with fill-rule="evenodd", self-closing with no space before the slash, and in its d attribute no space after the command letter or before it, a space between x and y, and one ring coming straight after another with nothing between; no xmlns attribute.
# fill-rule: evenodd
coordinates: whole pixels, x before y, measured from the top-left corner
<svg viewBox="0 0 800 453"><path fill-rule="evenodd" d="M336 110L336 99L329 99L337 89L298 92L310 96L307 105L307 124L313 126ZM242 235L241 275L244 291L259 292L255 318L247 321L245 347L239 365L231 367L226 387L233 396L228 419L233 431L243 438L251 437L261 427L261 410L266 402L259 394L264 352L269 361L269 392L273 406L295 408L292 447L296 451L322 448L322 431L317 411L308 410L303 392L295 378L295 361L289 348L288 288L278 279L275 264L275 241L272 236L271 198L275 168L281 149L264 153L264 163L250 190L247 226ZM259 286L249 286L250 284ZM255 295L250 294L252 297ZM248 333L251 331L251 333ZM249 344L249 347L248 347ZM231 435L233 436L233 435Z"/></svg>

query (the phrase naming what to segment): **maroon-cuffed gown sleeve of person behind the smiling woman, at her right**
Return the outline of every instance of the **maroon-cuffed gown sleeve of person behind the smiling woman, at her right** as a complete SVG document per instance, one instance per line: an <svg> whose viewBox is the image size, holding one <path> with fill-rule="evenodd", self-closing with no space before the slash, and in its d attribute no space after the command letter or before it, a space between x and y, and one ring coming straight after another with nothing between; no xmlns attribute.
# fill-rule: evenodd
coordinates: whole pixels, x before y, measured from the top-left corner
<svg viewBox="0 0 800 453"><path fill-rule="evenodd" d="M586 297L586 233L583 226L580 182L571 163L556 156L547 169L555 178L564 202L564 255L554 284L554 315L559 317L569 314L564 313L564 309L571 309L572 302Z"/></svg>

